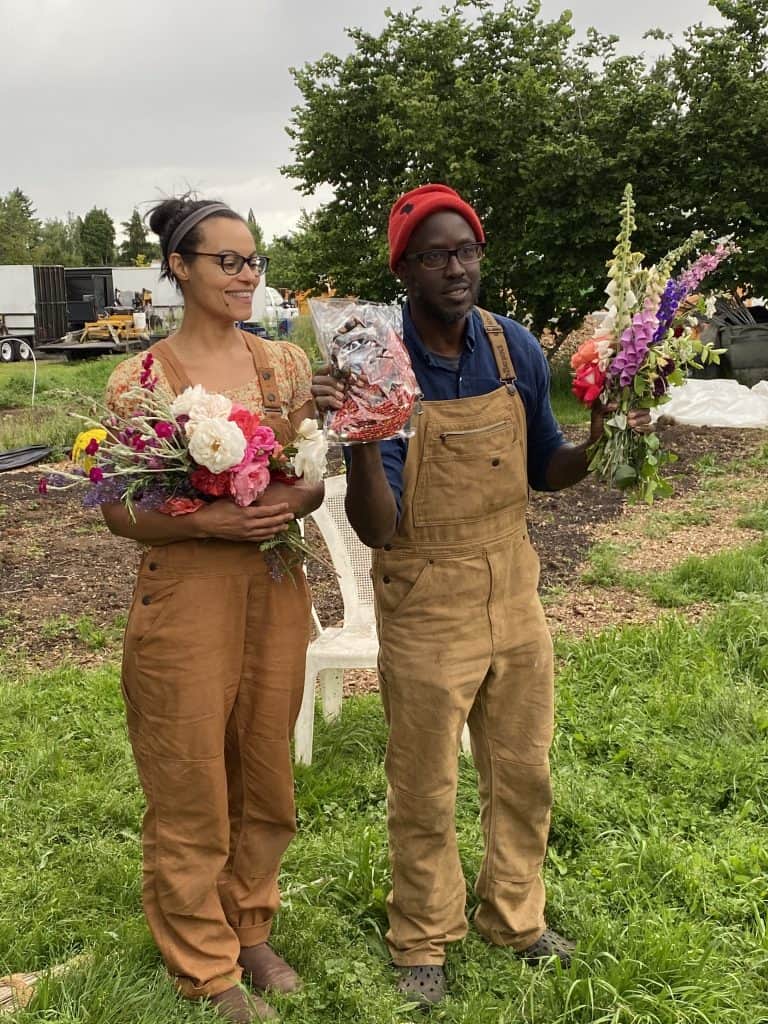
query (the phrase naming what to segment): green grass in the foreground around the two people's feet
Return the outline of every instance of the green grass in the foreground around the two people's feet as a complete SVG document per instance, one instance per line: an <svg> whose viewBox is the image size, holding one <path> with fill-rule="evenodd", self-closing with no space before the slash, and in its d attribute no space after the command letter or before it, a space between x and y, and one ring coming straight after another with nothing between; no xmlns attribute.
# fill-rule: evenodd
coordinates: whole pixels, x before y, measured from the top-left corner
<svg viewBox="0 0 768 1024"><path fill-rule="evenodd" d="M762 553L761 553L762 551ZM568 972L536 973L473 932L450 951L454 1024L758 1024L768 1020L768 606L709 559L705 623L559 641L550 919L577 935ZM719 556L718 556L719 557ZM717 583L715 582L717 581ZM754 580L757 589L758 580ZM87 618L57 620L98 647ZM94 640L94 634L95 640ZM0 974L91 959L46 981L16 1024L181 1024L140 911L142 800L116 666L30 674L0 659ZM385 726L378 697L317 723L297 770L298 838L274 944L306 979L286 1024L422 1019L395 999L382 936L388 888ZM461 760L459 844L480 862L474 769ZM470 913L474 896L468 894Z"/></svg>

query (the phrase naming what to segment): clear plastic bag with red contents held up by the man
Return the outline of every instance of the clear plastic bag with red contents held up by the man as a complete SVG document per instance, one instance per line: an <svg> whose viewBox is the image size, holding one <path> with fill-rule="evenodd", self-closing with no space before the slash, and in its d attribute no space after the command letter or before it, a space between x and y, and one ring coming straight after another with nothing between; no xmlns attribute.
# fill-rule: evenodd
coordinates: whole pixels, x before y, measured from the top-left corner
<svg viewBox="0 0 768 1024"><path fill-rule="evenodd" d="M309 310L331 373L348 381L342 408L326 414L329 440L362 444L411 437L420 392L402 342L400 307L310 299Z"/></svg>

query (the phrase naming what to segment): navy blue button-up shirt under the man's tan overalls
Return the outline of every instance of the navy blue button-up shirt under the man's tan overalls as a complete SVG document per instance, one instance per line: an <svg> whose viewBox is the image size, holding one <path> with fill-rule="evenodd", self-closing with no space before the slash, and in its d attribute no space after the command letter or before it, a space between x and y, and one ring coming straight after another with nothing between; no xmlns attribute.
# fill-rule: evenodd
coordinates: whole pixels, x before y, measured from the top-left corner
<svg viewBox="0 0 768 1024"><path fill-rule="evenodd" d="M547 467L553 453L565 444L549 400L550 374L541 345L521 324L507 316L494 316L504 331L517 374L517 389L525 407L528 445L528 482L536 490L548 490ZM406 347L411 355L416 379L426 401L474 398L488 394L501 385L494 350L474 310L467 318L464 349L458 366L431 352L419 337L408 305L402 310ZM402 468L408 455L408 440L380 441L381 459L389 485L400 511Z"/></svg>

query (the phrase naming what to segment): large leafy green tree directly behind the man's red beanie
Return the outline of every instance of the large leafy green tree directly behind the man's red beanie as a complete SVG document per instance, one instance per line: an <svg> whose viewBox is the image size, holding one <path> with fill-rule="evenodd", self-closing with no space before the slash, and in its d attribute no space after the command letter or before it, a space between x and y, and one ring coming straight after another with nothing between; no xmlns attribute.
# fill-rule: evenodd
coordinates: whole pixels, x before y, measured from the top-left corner
<svg viewBox="0 0 768 1024"><path fill-rule="evenodd" d="M743 227L733 219L738 174L716 181L740 156L703 164L721 124L718 153L732 143L737 118L738 137L752 132L759 144L768 0L713 2L725 26L690 30L652 66L595 31L575 45L569 13L544 20L537 0L498 11L456 0L435 20L390 12L378 36L352 31L348 56L294 72L303 102L285 171L307 195L322 184L335 194L314 217L317 272L343 291L392 298L389 206L406 188L444 181L485 224L481 301L562 336L602 304L627 181L638 200L637 244L651 258L694 227ZM718 116L721 87L737 100L727 118ZM765 152L750 191L761 217L764 162Z"/></svg>

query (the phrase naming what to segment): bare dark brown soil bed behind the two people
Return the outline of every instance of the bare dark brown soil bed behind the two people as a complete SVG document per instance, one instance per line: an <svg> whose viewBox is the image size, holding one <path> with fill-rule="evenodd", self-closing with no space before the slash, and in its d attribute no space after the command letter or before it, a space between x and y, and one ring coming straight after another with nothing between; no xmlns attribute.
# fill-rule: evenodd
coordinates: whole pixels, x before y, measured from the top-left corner
<svg viewBox="0 0 768 1024"><path fill-rule="evenodd" d="M569 433L572 439L581 434ZM669 426L666 447L678 457L672 467L683 495L696 484L695 464L705 455L730 462L757 451L759 431ZM88 616L94 627L116 632L128 609L138 548L113 537L97 511L83 509L75 494L41 498L35 467L0 473L0 642L36 665L62 657L92 663L115 655L84 645L75 622ZM542 589L568 588L595 529L617 520L622 496L588 478L557 494L531 496L530 534L542 561ZM309 540L316 540L311 524ZM316 563L308 569L315 607L324 625L341 620L343 608L333 575ZM66 616L66 617L62 617Z"/></svg>

